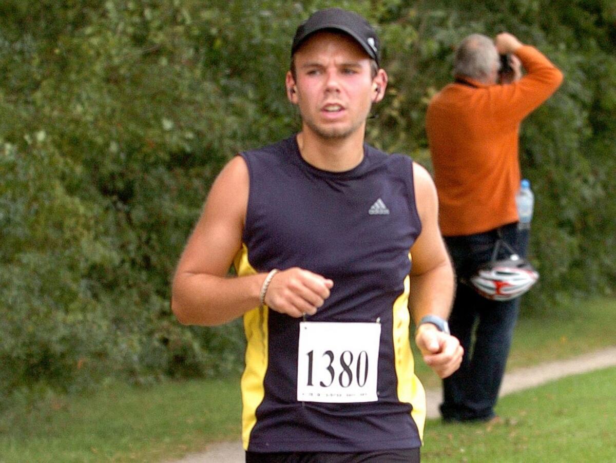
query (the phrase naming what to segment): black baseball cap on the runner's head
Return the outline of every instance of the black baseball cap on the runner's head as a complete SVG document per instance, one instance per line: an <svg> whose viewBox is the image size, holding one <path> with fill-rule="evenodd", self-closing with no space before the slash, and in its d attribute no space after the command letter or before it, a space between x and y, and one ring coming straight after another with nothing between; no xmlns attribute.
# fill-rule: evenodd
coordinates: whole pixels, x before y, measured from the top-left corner
<svg viewBox="0 0 616 463"><path fill-rule="evenodd" d="M349 34L379 65L379 39L372 26L357 13L341 8L326 8L314 12L298 26L291 45L291 56L308 36L322 30L336 30ZM379 65L380 66L380 65Z"/></svg>

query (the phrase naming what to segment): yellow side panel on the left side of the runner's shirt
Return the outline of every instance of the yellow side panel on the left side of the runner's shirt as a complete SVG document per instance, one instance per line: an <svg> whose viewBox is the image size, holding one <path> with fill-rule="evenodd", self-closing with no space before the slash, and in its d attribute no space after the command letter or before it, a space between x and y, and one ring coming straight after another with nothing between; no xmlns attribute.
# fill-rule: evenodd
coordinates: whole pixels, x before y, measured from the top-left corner
<svg viewBox="0 0 616 463"><path fill-rule="evenodd" d="M248 249L242 244L233 260L238 276L254 275L256 270L248 262ZM263 382L267 371L267 307L255 307L244 315L246 334L246 368L241 377L241 440L248 449L248 440L257 422L257 407L265 397Z"/></svg>

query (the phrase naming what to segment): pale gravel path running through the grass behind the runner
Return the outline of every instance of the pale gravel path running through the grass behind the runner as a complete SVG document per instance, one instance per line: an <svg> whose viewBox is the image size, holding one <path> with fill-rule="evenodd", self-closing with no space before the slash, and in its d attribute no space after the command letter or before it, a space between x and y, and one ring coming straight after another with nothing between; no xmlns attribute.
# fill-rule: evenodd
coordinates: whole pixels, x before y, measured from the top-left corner
<svg viewBox="0 0 616 463"><path fill-rule="evenodd" d="M580 355L569 360L554 361L528 368L521 368L505 374L500 396L530 389L548 381L573 374L616 366L616 346L598 352ZM439 417L440 389L427 390L428 418ZM221 442L208 446L203 453L189 455L181 460L168 463L241 463L244 450L240 441Z"/></svg>

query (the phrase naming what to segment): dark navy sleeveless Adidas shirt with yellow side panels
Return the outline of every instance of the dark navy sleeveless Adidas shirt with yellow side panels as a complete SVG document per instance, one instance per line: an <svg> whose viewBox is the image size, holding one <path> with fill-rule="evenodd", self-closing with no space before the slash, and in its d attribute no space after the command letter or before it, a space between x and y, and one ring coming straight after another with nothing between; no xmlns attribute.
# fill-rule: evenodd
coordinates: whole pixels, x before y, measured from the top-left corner
<svg viewBox="0 0 616 463"><path fill-rule="evenodd" d="M413 166L408 156L387 155L367 144L363 150L362 162L346 172L306 163L296 136L240 153L250 183L243 244L234 261L238 275L272 268L310 270L331 278L334 286L306 321L381 326L376 401L299 401L302 319L268 307L247 312L241 379L246 450L361 452L421 446L425 395L414 374L407 308L409 250L421 231ZM332 381L346 381L340 363L331 371Z"/></svg>

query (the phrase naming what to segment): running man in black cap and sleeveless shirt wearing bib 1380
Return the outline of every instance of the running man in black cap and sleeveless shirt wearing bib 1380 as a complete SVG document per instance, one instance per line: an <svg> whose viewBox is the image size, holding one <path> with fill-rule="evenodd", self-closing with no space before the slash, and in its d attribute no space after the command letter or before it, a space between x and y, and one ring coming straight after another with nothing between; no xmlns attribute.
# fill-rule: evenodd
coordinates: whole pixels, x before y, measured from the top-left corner
<svg viewBox="0 0 616 463"><path fill-rule="evenodd" d="M440 377L460 365L436 188L364 142L386 87L364 18L325 9L299 25L286 93L301 132L224 167L180 257L181 323L243 316L246 462L419 461L411 316L424 361Z"/></svg>

